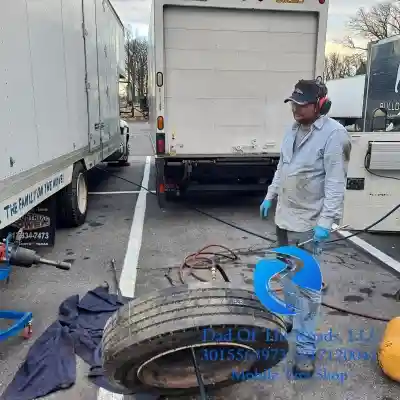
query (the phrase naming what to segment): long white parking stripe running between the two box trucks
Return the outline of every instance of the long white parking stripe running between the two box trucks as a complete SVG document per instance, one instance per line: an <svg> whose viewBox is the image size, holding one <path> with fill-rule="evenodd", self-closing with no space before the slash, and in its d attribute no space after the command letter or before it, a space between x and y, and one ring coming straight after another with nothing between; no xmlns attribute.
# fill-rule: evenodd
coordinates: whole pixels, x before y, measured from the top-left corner
<svg viewBox="0 0 400 400"><path fill-rule="evenodd" d="M146 157L144 166L142 187L149 186L151 157ZM124 265L122 267L119 287L124 297L134 297L137 276L137 265L139 261L140 248L142 246L144 217L146 214L146 197L148 191L140 189L133 214L131 232L129 234L128 246L126 249ZM100 388L97 393L97 400L123 400L124 395L111 393Z"/></svg>

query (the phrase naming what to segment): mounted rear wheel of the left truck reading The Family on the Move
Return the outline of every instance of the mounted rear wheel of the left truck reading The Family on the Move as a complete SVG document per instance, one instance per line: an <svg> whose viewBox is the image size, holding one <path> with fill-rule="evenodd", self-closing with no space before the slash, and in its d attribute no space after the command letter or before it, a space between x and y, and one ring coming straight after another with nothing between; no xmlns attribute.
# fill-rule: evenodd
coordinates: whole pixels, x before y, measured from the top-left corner
<svg viewBox="0 0 400 400"><path fill-rule="evenodd" d="M88 209L87 171L81 162L74 165L72 181L58 192L58 220L63 227L73 228L85 223Z"/></svg>

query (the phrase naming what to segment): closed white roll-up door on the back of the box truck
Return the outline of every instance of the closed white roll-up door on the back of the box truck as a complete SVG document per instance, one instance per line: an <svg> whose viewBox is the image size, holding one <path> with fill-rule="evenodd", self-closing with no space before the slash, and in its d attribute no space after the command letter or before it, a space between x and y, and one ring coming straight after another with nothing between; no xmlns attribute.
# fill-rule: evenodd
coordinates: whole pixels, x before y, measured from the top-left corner
<svg viewBox="0 0 400 400"><path fill-rule="evenodd" d="M279 153L284 99L315 77L316 13L166 7L165 128L177 154Z"/></svg>

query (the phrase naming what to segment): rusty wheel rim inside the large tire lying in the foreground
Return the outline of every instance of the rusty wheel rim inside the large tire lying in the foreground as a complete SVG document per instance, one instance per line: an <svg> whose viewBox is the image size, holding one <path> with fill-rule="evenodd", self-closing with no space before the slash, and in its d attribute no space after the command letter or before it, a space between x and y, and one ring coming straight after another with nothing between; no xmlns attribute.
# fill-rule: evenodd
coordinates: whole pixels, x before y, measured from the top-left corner
<svg viewBox="0 0 400 400"><path fill-rule="evenodd" d="M198 343L169 350L150 358L138 368L138 379L145 385L156 388L190 389L196 387L198 385L196 373L191 357L188 355L190 348L197 353L197 362L201 373L204 374L203 381L206 386L232 379L233 370L246 371L257 361L257 353L251 346L228 342ZM217 356L218 360L209 362L201 355L202 352L209 354L217 352L216 354L218 354L224 348L226 349L224 353L229 349L242 349L249 356L245 357L247 359L243 361L222 360Z"/></svg>

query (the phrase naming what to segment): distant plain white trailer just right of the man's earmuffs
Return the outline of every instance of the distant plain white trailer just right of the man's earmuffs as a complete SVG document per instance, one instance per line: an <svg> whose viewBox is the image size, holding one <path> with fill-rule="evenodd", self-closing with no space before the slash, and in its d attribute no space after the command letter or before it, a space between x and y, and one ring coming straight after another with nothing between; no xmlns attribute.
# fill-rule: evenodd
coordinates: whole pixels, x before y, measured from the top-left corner
<svg viewBox="0 0 400 400"><path fill-rule="evenodd" d="M332 101L329 116L351 130L363 127L365 75L356 75L326 82L328 96Z"/></svg>

